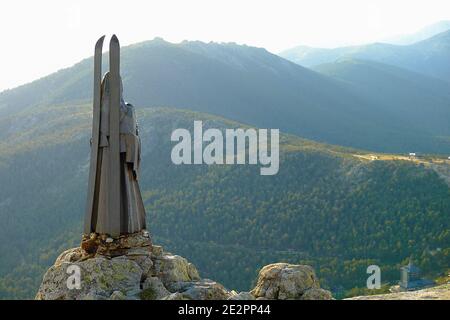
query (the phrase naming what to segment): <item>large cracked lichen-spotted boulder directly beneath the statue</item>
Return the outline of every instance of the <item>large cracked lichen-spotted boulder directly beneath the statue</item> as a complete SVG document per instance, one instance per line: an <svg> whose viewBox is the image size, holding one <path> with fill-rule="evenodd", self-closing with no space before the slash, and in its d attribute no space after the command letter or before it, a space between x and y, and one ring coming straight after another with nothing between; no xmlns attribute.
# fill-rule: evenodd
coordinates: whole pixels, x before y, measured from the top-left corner
<svg viewBox="0 0 450 320"><path fill-rule="evenodd" d="M132 239L121 241L126 244L136 242ZM105 250L100 243L95 253L82 247L64 251L45 273L36 299L219 300L229 297L228 290L221 284L200 279L195 266L185 258L165 252L160 246L135 245L118 246L114 250L109 245ZM115 256L117 253L124 254ZM79 270L80 288L68 285L74 267Z"/></svg>

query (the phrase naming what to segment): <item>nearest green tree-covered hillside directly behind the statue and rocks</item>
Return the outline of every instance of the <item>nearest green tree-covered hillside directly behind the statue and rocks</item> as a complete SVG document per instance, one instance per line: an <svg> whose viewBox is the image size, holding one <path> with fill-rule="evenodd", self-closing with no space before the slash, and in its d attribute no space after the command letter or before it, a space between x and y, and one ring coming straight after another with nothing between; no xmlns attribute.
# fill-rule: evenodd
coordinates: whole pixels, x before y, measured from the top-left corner
<svg viewBox="0 0 450 320"><path fill-rule="evenodd" d="M265 264L307 263L342 294L365 286L369 264L381 266L383 281L397 280L410 255L433 276L450 265L449 186L423 165L282 135L275 176L258 166L176 166L173 129L241 125L169 108L138 108L138 120L154 242L205 277L249 289ZM88 105L1 118L1 298L32 298L56 255L79 243L90 125Z"/></svg>

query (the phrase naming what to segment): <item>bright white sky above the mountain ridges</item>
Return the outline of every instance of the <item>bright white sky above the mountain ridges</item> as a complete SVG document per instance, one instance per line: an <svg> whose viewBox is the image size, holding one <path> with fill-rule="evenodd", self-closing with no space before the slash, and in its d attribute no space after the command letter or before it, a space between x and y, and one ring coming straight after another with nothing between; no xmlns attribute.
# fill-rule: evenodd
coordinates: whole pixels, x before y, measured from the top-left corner
<svg viewBox="0 0 450 320"><path fill-rule="evenodd" d="M91 56L102 34L116 33L122 45L158 36L276 53L366 43L448 19L449 0L2 0L0 91Z"/></svg>

